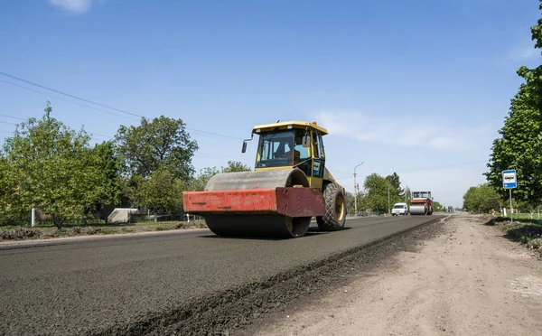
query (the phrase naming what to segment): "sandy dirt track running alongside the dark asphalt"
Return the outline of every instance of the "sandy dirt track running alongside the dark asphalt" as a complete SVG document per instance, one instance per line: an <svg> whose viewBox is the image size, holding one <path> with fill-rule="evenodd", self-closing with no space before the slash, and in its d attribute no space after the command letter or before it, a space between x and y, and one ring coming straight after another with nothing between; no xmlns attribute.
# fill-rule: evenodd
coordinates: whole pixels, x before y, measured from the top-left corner
<svg viewBox="0 0 542 336"><path fill-rule="evenodd" d="M248 332L542 335L542 261L475 216L453 216L441 232Z"/></svg>

